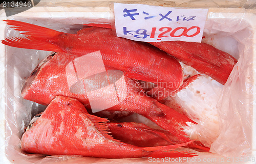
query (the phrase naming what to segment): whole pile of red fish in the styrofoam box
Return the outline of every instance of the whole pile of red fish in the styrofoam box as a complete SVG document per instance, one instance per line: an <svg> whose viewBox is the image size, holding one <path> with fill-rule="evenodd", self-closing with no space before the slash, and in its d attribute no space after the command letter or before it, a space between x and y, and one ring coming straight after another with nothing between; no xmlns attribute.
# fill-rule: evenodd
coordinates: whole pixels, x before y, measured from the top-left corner
<svg viewBox="0 0 256 164"><path fill-rule="evenodd" d="M188 122L195 121L159 102L169 95L150 93L177 93L200 76L186 78L179 61L224 85L237 63L230 54L205 43L132 41L96 26L67 34L5 21L24 37L6 38L3 44L54 51L38 64L22 89L24 99L47 105L23 134L23 151L102 158L196 155L183 147L209 151L184 131ZM94 62L99 59L103 67ZM140 81L154 84L147 95ZM134 113L162 129L118 122Z"/></svg>

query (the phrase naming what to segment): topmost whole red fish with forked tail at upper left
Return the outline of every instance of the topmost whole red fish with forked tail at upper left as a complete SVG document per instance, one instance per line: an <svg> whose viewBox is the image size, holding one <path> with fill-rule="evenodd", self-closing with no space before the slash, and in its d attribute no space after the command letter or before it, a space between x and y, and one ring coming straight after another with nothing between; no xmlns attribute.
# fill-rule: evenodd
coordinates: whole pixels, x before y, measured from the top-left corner
<svg viewBox="0 0 256 164"><path fill-rule="evenodd" d="M104 65L123 71L127 77L171 90L183 83L182 68L175 58L148 43L116 37L111 29L91 27L66 34L16 20L5 21L26 37L6 38L3 44L82 55L100 50Z"/></svg>

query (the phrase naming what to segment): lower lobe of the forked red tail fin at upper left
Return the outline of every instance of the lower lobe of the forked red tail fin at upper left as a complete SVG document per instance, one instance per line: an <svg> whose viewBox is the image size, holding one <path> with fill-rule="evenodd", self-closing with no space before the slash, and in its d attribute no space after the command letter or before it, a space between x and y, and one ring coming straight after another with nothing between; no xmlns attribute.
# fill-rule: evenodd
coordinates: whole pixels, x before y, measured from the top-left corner
<svg viewBox="0 0 256 164"><path fill-rule="evenodd" d="M40 49L46 51L60 51L60 48L49 42L43 42L32 37L6 38L2 43L8 46L27 49Z"/></svg>

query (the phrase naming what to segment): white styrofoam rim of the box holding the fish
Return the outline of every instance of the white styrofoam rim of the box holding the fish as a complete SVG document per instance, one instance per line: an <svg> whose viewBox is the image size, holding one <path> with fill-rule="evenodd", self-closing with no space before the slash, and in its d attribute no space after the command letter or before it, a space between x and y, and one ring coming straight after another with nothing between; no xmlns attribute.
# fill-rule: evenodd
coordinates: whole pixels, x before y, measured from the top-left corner
<svg viewBox="0 0 256 164"><path fill-rule="evenodd" d="M217 13L221 13L222 17L216 17ZM256 12L255 10L245 10L241 8L209 8L208 18L232 18L234 15L241 16L243 20L247 21L255 32L253 34L253 56L256 57ZM12 18L75 18L84 17L89 19L102 18L99 22L110 22L113 17L110 14L110 8L108 7L34 7L25 12L16 14L14 16L6 17L4 10L0 11L0 40L5 38L6 24L4 19ZM6 96L5 96L5 45L0 44L0 88L1 94L1 111L0 111L0 159L3 163L11 163L6 157L5 152L5 110L6 110ZM253 63L256 63L256 59L253 58ZM253 78L256 79L256 64L253 65ZM253 85L253 97L256 97L256 83ZM252 123L252 136L256 136L256 104L253 103L253 123ZM256 157L256 138L252 139L252 156Z"/></svg>

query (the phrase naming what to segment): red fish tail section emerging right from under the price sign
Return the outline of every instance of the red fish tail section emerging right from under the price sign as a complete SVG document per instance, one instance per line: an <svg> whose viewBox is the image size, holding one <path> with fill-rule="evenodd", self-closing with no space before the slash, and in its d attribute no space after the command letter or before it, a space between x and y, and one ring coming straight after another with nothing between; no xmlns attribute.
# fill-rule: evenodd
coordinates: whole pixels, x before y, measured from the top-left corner
<svg viewBox="0 0 256 164"><path fill-rule="evenodd" d="M164 41L150 44L164 50L182 63L225 84L238 62L227 52L206 43Z"/></svg>

